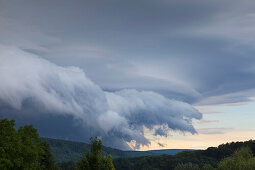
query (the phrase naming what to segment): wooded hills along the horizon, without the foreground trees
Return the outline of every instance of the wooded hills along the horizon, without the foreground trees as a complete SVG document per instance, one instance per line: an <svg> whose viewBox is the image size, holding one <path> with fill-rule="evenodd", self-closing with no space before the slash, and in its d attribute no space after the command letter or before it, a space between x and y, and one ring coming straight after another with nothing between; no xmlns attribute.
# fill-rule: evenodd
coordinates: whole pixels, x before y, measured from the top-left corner
<svg viewBox="0 0 255 170"><path fill-rule="evenodd" d="M89 150L90 148L89 144L82 142L49 138L44 140L50 144L52 153L58 162L75 162L80 158L84 149ZM255 141L252 140L246 142L232 142L197 151L191 149L121 151L104 146L102 150L103 154L112 155L113 163L117 170L150 170L153 168L169 170L174 169L179 163L193 163L194 165L199 165L202 170L206 170L203 169L204 165L211 165L216 168L221 160L231 156L236 150L242 147L251 148L252 154L255 154ZM192 167L190 167L190 169L192 170ZM181 170L181 168L179 170Z"/></svg>

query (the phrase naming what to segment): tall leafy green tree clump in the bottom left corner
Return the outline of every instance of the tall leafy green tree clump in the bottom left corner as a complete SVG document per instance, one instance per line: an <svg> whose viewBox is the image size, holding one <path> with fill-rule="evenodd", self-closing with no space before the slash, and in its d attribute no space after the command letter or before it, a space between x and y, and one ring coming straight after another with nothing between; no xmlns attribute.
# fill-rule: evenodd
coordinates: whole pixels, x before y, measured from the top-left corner
<svg viewBox="0 0 255 170"><path fill-rule="evenodd" d="M0 120L0 169L58 169L49 145L33 126L14 126L14 120Z"/></svg>

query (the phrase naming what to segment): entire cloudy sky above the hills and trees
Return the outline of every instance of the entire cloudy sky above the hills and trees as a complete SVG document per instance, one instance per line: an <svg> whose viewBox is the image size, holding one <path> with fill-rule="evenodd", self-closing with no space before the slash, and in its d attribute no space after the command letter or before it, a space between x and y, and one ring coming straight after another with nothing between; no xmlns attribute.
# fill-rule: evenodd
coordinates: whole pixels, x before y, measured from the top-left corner
<svg viewBox="0 0 255 170"><path fill-rule="evenodd" d="M0 0L0 117L120 149L255 138L253 0Z"/></svg>

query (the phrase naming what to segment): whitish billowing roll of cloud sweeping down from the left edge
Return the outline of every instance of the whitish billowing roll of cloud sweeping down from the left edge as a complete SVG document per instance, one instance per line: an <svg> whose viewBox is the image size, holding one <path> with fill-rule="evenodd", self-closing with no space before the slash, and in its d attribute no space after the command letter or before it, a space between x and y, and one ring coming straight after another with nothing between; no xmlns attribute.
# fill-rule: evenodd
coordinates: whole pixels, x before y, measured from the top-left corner
<svg viewBox="0 0 255 170"><path fill-rule="evenodd" d="M0 113L10 107L17 115L32 108L32 116L72 116L84 131L93 129L115 147L131 140L137 147L148 144L144 127L196 133L192 119L202 117L191 105L152 91L103 91L83 70L58 66L16 47L0 46L0 80Z"/></svg>

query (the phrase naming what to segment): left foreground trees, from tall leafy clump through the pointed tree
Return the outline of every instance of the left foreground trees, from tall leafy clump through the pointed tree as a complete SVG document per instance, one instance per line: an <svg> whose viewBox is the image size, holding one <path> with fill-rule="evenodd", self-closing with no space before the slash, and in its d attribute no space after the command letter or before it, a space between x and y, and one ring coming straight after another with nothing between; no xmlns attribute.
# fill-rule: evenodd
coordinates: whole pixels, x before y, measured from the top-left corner
<svg viewBox="0 0 255 170"><path fill-rule="evenodd" d="M59 170L66 169L57 163L47 142L31 125L15 129L15 121L0 120L1 170ZM67 164L75 170L115 170L111 155L102 155L102 140L91 138L90 151L82 154L76 163Z"/></svg>

